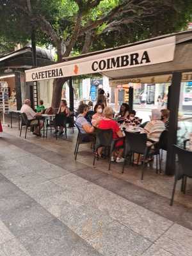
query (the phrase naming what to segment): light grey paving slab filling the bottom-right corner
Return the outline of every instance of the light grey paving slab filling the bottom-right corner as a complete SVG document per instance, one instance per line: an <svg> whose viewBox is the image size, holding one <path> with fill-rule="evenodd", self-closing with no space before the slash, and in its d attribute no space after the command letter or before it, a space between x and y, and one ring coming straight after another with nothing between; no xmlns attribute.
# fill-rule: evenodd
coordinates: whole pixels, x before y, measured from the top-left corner
<svg viewBox="0 0 192 256"><path fill-rule="evenodd" d="M156 241L156 246L163 248L174 256L191 256L192 230L174 224Z"/></svg>

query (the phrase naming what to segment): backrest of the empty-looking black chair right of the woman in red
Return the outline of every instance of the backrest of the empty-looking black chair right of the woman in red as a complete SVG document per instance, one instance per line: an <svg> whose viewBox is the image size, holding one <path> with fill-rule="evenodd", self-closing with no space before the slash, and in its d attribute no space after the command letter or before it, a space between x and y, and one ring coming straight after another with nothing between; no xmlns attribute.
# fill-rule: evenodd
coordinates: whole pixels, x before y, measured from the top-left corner
<svg viewBox="0 0 192 256"><path fill-rule="evenodd" d="M129 148L129 151L131 152L145 154L147 147L147 134L125 131L125 147Z"/></svg>

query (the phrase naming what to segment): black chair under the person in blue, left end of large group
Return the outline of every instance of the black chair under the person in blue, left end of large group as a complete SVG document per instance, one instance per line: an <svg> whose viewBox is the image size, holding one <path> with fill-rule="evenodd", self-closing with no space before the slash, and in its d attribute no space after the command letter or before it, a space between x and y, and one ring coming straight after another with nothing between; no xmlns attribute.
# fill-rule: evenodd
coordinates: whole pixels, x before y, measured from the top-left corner
<svg viewBox="0 0 192 256"><path fill-rule="evenodd" d="M74 155L75 155L75 160L77 159L77 153L79 151L79 145L81 144L88 144L88 143L93 143L93 151L95 151L95 135L94 134L88 134L88 133L82 133L81 130L79 129L78 125L76 122L74 124L77 127L78 134L77 134L77 141L76 141L76 147L74 150Z"/></svg>

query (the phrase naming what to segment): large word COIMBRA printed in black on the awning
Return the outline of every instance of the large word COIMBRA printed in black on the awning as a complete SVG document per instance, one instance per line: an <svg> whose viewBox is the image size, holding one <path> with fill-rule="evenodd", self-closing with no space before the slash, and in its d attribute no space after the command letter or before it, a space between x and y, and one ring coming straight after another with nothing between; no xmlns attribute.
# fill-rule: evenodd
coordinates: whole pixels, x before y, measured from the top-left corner
<svg viewBox="0 0 192 256"><path fill-rule="evenodd" d="M132 54L126 54L123 56L118 56L114 58L109 58L107 60L94 61L92 63L92 70L99 71L105 69L114 69L120 67L127 67L133 65L141 65L144 63L150 63L150 58L148 52L144 51L143 54L138 52Z"/></svg>

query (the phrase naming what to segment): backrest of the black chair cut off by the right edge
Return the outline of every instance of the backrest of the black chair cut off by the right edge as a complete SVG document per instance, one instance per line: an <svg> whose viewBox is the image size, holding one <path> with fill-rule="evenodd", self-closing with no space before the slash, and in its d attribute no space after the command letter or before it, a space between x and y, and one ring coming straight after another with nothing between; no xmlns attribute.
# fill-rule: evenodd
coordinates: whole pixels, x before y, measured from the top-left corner
<svg viewBox="0 0 192 256"><path fill-rule="evenodd" d="M180 168L176 168L175 176L177 179L182 178L183 175L192 178L192 152L174 145L175 153L178 156Z"/></svg>

